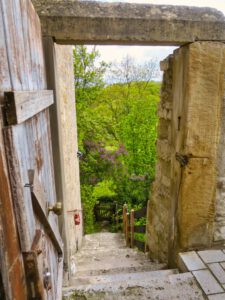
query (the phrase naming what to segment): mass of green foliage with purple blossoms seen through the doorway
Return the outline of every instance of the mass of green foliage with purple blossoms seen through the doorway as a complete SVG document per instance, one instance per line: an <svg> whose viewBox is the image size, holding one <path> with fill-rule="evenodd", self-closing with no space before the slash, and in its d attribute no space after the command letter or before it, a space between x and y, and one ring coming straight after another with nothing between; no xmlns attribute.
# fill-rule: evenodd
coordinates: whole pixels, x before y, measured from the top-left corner
<svg viewBox="0 0 225 300"><path fill-rule="evenodd" d="M140 66L125 58L120 65L109 69L98 60L95 48L87 52L85 46L77 46L74 50L86 232L94 230L93 208L101 197L112 197L120 204L144 206L156 162L160 84L151 81L154 62ZM111 81L114 83L108 86L103 80L106 70L114 76Z"/></svg>

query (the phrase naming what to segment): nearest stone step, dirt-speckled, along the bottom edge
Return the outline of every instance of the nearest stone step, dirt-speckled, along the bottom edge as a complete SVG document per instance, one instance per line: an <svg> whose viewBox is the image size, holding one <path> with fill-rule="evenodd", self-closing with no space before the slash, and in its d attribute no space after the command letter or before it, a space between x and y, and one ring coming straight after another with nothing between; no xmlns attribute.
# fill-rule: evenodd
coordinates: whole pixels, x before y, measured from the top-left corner
<svg viewBox="0 0 225 300"><path fill-rule="evenodd" d="M69 287L63 291L65 300L203 300L204 296L191 273L90 284Z"/></svg>

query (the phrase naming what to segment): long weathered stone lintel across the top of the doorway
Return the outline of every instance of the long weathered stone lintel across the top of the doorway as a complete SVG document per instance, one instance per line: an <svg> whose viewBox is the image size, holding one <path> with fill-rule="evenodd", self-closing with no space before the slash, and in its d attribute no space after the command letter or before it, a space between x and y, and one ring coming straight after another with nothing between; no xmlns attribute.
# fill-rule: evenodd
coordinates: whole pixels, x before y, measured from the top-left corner
<svg viewBox="0 0 225 300"><path fill-rule="evenodd" d="M225 16L213 8L33 0L42 32L63 44L183 45L225 41Z"/></svg>

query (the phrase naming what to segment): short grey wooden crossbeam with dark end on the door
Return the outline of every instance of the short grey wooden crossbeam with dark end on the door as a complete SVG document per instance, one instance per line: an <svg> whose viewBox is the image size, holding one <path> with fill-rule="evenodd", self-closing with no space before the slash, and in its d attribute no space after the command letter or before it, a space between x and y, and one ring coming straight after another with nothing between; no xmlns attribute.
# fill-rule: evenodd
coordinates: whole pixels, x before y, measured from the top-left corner
<svg viewBox="0 0 225 300"><path fill-rule="evenodd" d="M7 125L20 124L53 104L53 91L5 92Z"/></svg>

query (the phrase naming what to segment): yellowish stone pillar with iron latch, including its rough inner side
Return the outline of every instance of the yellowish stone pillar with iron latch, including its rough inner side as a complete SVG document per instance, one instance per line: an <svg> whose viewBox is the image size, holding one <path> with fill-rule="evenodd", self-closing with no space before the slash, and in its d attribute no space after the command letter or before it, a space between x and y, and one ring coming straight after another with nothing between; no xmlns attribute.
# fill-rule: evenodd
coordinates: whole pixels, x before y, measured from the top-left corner
<svg viewBox="0 0 225 300"><path fill-rule="evenodd" d="M168 255L174 262L178 251L214 247L225 240L225 45L192 43L168 61L148 245L153 258L166 261ZM171 90L166 101L165 91Z"/></svg>

